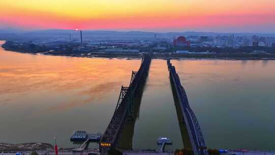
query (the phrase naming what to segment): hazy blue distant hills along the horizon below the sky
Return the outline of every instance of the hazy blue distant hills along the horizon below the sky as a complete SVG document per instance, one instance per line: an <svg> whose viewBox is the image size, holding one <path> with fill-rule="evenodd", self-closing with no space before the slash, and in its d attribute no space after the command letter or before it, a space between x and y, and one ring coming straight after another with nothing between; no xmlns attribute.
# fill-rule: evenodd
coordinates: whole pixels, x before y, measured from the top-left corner
<svg viewBox="0 0 275 155"><path fill-rule="evenodd" d="M0 29L1 40L45 40L53 38L69 39L69 35L73 38L79 38L79 31L75 30L19 30L19 29ZM263 36L275 37L274 33L215 33L215 32L168 32L168 33L154 33L142 31L82 31L84 39L153 39L154 35L157 38L172 39L173 36Z"/></svg>

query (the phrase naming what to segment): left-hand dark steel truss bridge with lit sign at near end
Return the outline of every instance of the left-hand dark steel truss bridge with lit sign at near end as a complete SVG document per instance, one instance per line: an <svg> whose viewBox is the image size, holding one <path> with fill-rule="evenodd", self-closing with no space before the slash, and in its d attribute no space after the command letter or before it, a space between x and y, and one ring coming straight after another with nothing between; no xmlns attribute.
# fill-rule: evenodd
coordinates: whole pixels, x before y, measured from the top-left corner
<svg viewBox="0 0 275 155"><path fill-rule="evenodd" d="M150 63L151 55L145 54L142 58L140 69L138 71L132 71L129 87L121 87L116 110L100 140L99 149L101 154L107 154L110 148L117 147L126 120L128 117L131 117L133 113L133 96L141 83L142 77L149 70Z"/></svg>

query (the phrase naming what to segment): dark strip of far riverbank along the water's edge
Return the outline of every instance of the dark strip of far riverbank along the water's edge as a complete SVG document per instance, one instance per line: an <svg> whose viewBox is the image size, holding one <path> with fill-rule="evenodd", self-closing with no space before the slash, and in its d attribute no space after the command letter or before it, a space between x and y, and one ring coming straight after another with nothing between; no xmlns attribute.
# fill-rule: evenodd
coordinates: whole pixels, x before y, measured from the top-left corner
<svg viewBox="0 0 275 155"><path fill-rule="evenodd" d="M24 54L40 54L50 56L68 56L68 57L83 57L83 58L125 58L125 59L140 59L142 53L102 53L97 51L54 51L49 50L45 46L24 47L18 48L6 43L2 45L5 50L16 51ZM146 52L144 52L146 53ZM275 60L275 53L209 53L209 54L177 54L177 53L152 53L153 59L218 59L218 60Z"/></svg>

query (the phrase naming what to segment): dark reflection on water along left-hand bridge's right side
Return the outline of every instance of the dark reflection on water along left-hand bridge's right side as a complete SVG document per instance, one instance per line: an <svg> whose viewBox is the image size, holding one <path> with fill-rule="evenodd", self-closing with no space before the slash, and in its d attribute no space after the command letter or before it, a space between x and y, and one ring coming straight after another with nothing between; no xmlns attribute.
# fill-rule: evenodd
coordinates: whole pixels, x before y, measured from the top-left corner
<svg viewBox="0 0 275 155"><path fill-rule="evenodd" d="M132 150L132 142L134 136L134 125L136 119L139 118L140 107L144 89L146 88L146 81L149 73L150 65L148 66L147 72L144 73L141 83L137 87L136 93L133 96L133 106L132 106L132 115L128 116L126 124L122 130L118 148L123 150Z"/></svg>

